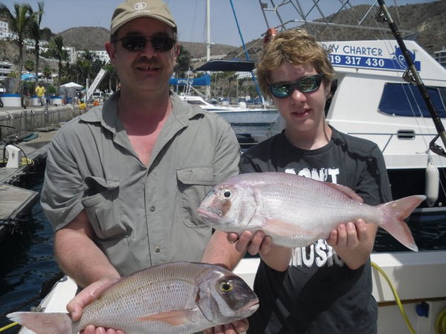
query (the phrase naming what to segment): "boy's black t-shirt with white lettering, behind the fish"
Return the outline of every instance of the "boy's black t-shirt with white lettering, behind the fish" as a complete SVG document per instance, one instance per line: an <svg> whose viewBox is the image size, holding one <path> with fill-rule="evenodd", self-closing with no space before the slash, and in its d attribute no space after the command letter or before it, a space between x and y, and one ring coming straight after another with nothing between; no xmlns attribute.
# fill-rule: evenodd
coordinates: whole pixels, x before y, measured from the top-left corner
<svg viewBox="0 0 446 334"><path fill-rule="evenodd" d="M379 147L332 128L321 149L292 146L283 132L241 156L241 173L281 171L346 185L369 205L391 200L389 178ZM329 200L329 199L327 199ZM260 308L248 333L376 333L370 260L350 270L325 240L295 248L286 272L261 261L254 291Z"/></svg>

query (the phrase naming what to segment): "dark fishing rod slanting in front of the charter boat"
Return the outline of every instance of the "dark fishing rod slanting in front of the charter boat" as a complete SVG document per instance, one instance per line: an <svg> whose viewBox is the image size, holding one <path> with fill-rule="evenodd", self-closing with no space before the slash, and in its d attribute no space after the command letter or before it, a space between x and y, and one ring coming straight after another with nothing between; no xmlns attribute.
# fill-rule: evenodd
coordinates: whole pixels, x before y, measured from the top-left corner
<svg viewBox="0 0 446 334"><path fill-rule="evenodd" d="M388 23L389 28L391 32L393 33L396 42L398 42L398 45L401 49L401 52L403 53L404 59L406 59L407 67L408 69L403 75L403 79L410 82L411 84L416 84L418 87L418 91L420 91L421 96L424 100L424 103L426 107L428 108L428 111L430 113L430 117L432 118L435 129L437 129L437 135L434 137L434 139L430 142L429 148L431 151L435 152L436 154L440 156L446 156L445 150L435 144L435 141L438 139L438 137L441 137L443 142L443 147L446 147L446 132L445 127L443 127L443 124L441 122L440 117L438 116L437 110L435 110L435 107L433 105L432 100L430 99L428 90L426 86L423 84L423 81L421 80L420 75L418 74L418 71L416 70L415 64L413 63L413 59L411 57L411 54L408 52L406 45L404 44L403 38L401 38L401 33L398 30L398 27L396 26L396 23L391 18L391 15L389 11L387 10L386 5L384 4L384 0L377 0L379 4L379 12L377 13L376 19L377 21L381 23Z"/></svg>

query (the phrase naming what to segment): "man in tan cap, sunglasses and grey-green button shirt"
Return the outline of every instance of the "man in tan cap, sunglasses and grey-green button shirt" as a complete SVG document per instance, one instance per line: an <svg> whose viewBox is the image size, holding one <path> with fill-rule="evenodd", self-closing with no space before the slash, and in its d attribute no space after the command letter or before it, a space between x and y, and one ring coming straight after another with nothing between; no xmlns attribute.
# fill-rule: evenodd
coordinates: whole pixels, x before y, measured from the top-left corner
<svg viewBox="0 0 446 334"><path fill-rule="evenodd" d="M74 321L122 275L183 260L232 270L241 256L196 213L213 185L239 173L240 149L228 122L169 90L180 47L168 7L125 1L110 30L105 49L120 90L59 130L42 189L57 261L84 288L67 306ZM236 333L247 323L210 332Z"/></svg>

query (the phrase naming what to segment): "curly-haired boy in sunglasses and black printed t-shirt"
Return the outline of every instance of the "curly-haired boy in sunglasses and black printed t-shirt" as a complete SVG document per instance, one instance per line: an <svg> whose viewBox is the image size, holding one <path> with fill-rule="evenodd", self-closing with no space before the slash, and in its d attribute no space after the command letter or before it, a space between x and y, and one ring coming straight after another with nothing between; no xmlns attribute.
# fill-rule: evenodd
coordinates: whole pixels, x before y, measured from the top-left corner
<svg viewBox="0 0 446 334"><path fill-rule="evenodd" d="M258 83L273 98L285 129L244 152L241 173L292 173L348 186L369 205L388 202L378 146L326 122L333 74L328 50L304 30L286 30L268 42L257 64ZM341 224L326 240L288 251L263 249L270 238L261 231L230 234L238 250L261 255L254 283L260 308L249 319L248 333L377 333L370 266L376 232L375 224L358 219ZM278 263L289 267L273 269Z"/></svg>

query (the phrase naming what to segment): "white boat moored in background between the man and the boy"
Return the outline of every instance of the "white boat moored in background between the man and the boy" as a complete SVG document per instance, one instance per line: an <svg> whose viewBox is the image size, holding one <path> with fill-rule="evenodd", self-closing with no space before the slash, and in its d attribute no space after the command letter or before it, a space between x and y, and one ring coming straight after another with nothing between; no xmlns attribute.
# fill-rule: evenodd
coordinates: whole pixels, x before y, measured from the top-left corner
<svg viewBox="0 0 446 334"><path fill-rule="evenodd" d="M280 119L276 108L247 108L246 103L232 105L213 105L201 96L181 95L180 98L191 105L199 105L202 109L216 113L231 125L272 126Z"/></svg>

